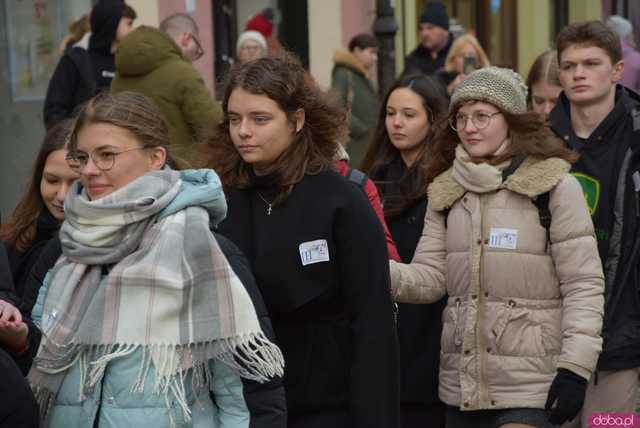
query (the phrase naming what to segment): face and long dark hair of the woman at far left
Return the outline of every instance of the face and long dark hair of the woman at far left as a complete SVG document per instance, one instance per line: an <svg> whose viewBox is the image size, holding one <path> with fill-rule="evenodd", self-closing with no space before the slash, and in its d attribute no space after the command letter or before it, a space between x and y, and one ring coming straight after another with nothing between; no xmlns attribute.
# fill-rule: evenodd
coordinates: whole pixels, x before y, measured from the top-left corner
<svg viewBox="0 0 640 428"><path fill-rule="evenodd" d="M65 161L65 144L72 121L51 128L42 141L31 181L16 205L1 238L7 248L15 291L22 298L27 275L44 245L60 229L64 220L64 197L78 178Z"/></svg>

